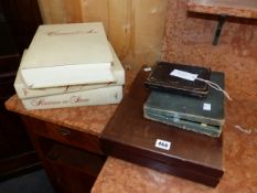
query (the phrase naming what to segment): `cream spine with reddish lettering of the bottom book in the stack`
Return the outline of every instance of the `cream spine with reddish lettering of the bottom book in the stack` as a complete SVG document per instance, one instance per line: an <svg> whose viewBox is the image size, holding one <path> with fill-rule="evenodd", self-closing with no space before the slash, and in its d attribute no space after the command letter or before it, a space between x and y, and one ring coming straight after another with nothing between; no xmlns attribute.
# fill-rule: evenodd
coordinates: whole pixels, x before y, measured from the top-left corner
<svg viewBox="0 0 257 193"><path fill-rule="evenodd" d="M122 86L110 86L98 89L68 93L22 99L23 106L29 109L51 109L63 107L96 106L118 104L122 99Z"/></svg>

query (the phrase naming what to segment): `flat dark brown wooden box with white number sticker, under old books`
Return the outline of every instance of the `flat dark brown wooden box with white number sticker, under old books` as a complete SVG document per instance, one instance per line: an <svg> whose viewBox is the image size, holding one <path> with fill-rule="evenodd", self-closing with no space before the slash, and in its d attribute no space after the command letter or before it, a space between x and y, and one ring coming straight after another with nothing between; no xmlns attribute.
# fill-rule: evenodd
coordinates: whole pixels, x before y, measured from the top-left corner
<svg viewBox="0 0 257 193"><path fill-rule="evenodd" d="M211 138L143 117L149 73L140 71L130 92L101 132L108 154L184 179L215 186L223 173L223 137Z"/></svg>

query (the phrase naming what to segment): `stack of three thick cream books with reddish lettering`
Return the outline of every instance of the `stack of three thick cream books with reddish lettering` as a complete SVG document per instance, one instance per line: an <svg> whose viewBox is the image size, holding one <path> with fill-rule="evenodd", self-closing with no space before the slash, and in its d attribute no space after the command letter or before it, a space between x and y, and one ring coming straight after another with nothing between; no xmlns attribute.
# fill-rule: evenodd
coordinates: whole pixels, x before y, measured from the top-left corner
<svg viewBox="0 0 257 193"><path fill-rule="evenodd" d="M118 104L125 71L101 23L40 25L14 88L26 109Z"/></svg>

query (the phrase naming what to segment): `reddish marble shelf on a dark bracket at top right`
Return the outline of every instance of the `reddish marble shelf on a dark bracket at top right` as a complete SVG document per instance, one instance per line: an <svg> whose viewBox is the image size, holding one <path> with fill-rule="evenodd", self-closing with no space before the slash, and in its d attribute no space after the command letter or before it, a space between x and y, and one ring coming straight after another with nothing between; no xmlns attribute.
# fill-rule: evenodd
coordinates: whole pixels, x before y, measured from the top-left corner
<svg viewBox="0 0 257 193"><path fill-rule="evenodd" d="M257 19L257 1L189 0L189 11Z"/></svg>

